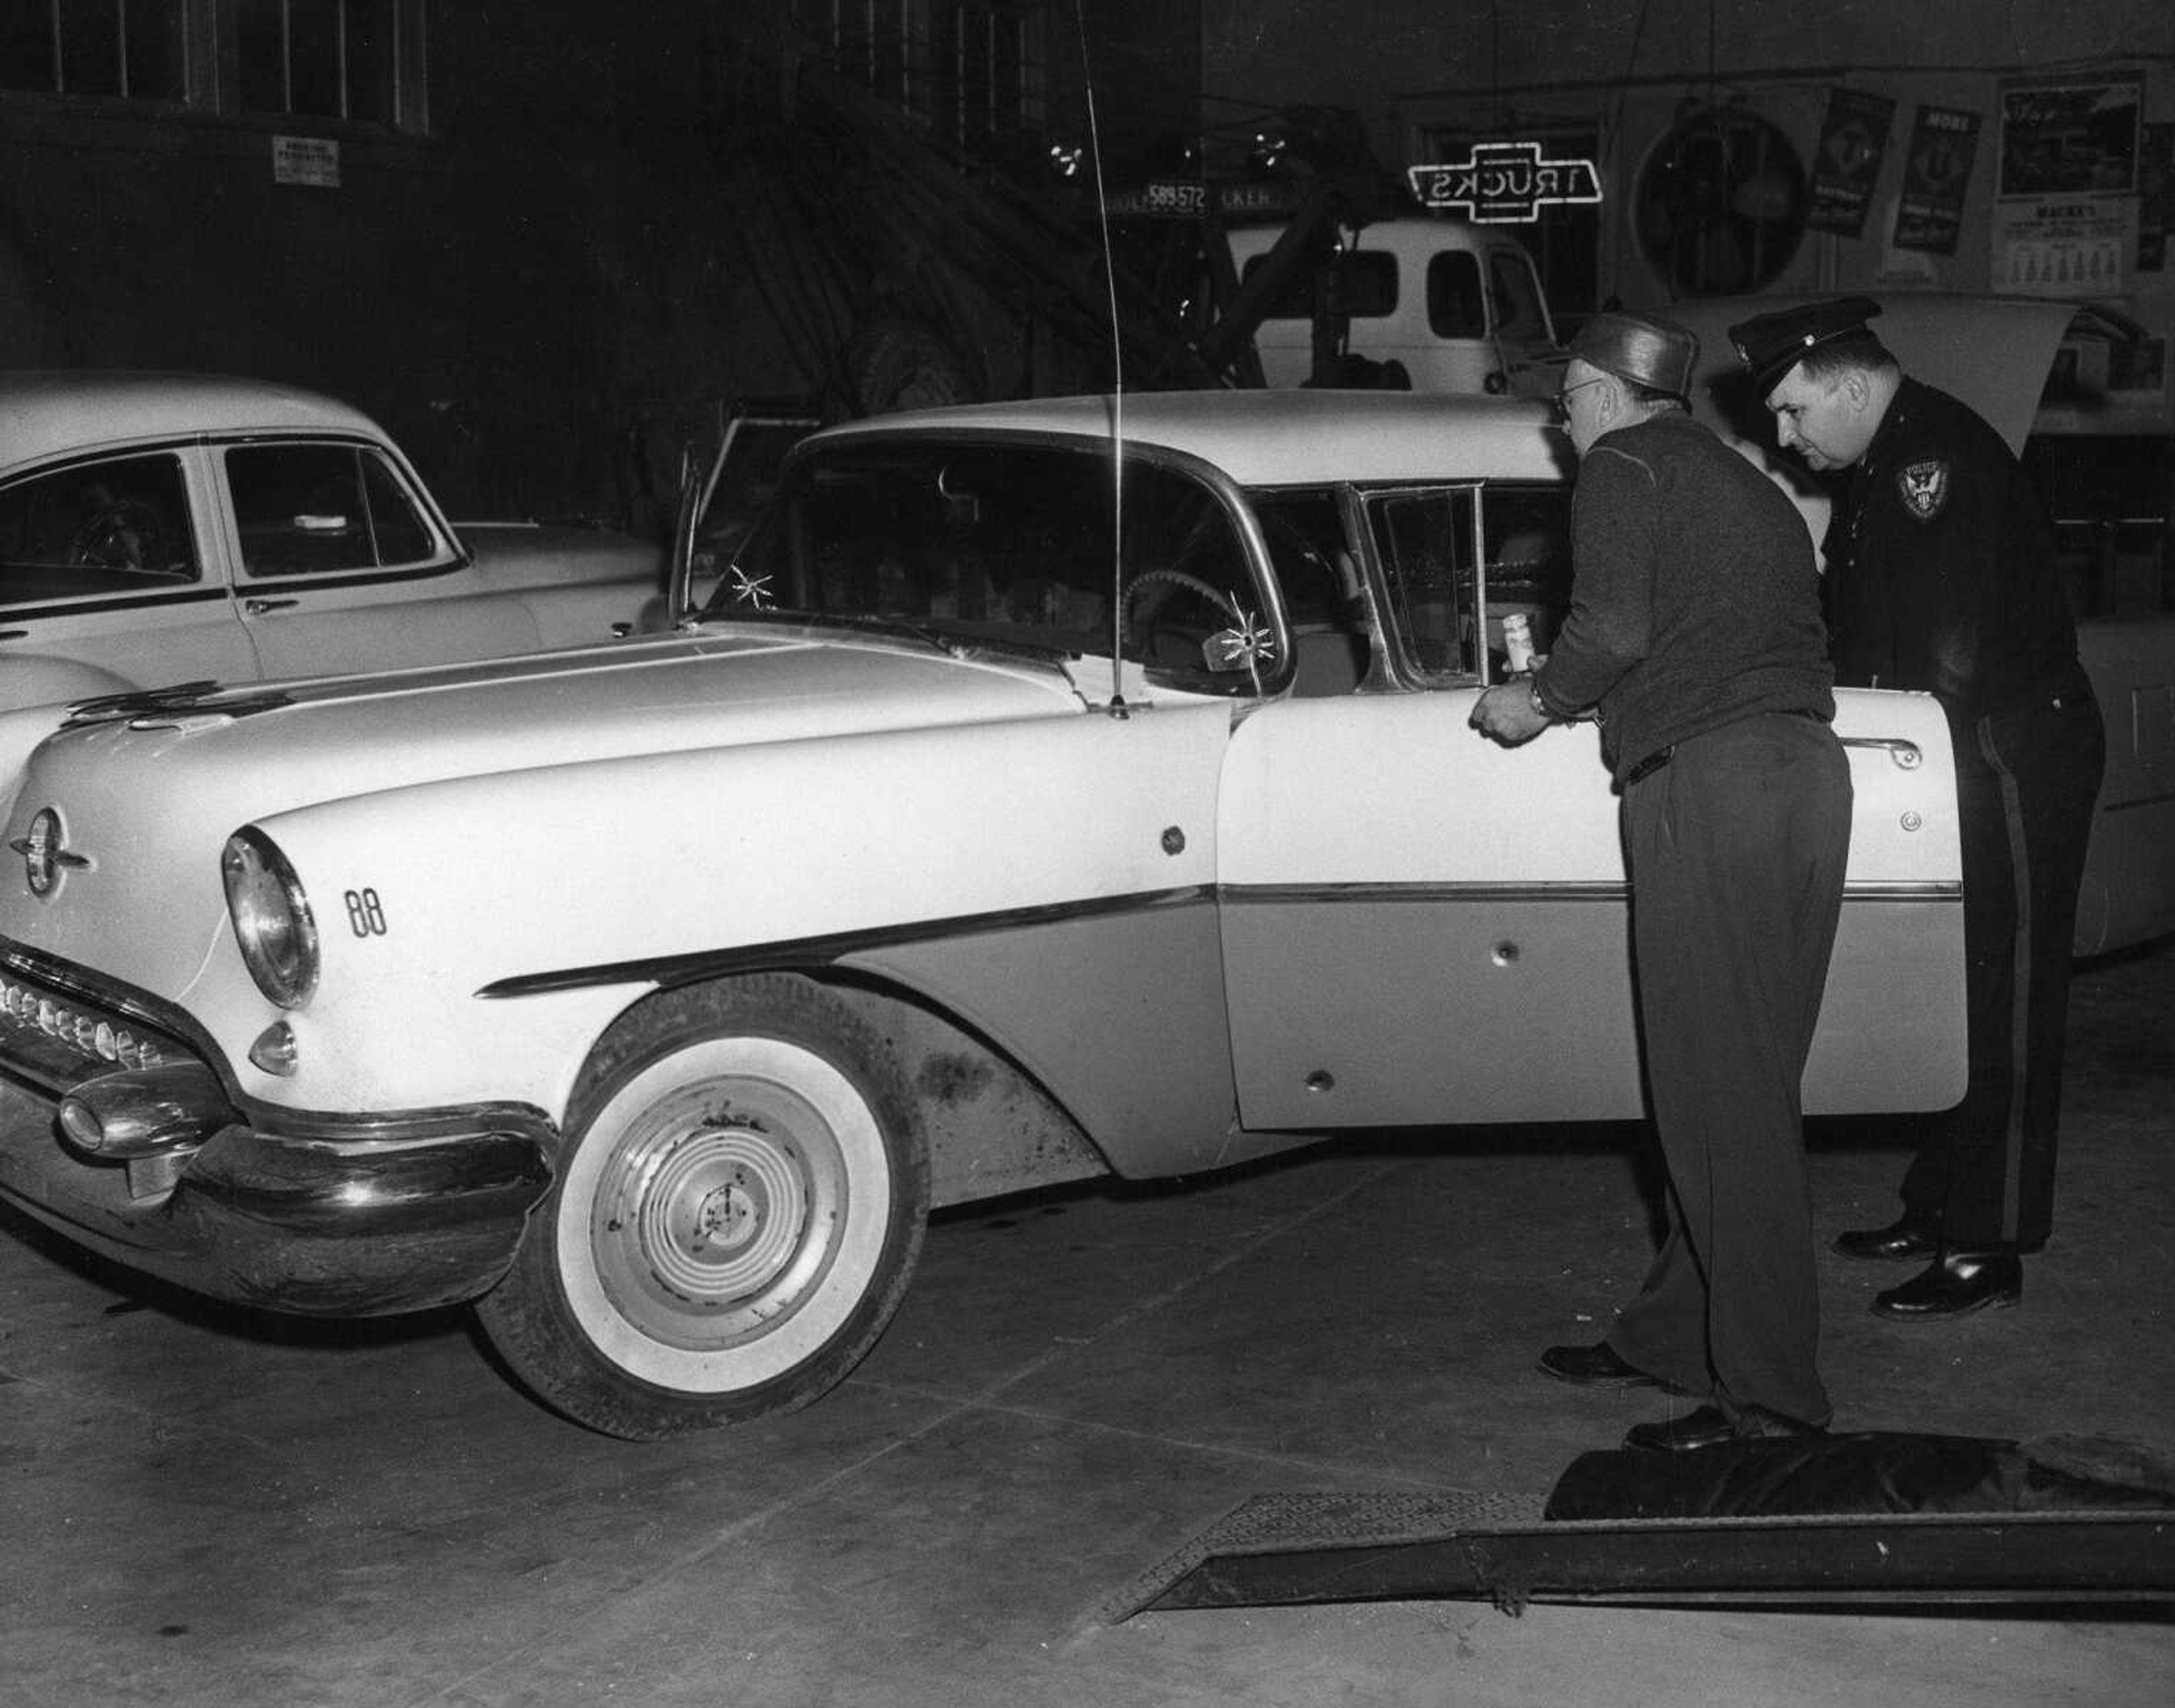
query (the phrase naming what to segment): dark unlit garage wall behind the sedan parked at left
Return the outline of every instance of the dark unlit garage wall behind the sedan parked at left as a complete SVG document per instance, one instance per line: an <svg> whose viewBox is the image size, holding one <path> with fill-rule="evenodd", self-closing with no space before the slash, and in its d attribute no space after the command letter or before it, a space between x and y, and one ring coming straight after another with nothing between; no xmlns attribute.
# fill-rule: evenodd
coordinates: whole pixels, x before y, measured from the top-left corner
<svg viewBox="0 0 2175 1708"><path fill-rule="evenodd" d="M818 324L837 302L766 224L761 161L792 148L829 0L415 0L426 87L400 126L241 113L215 28L235 0L146 2L198 30L185 98L0 89L0 363L315 385L378 416L455 513L637 524L670 503L652 429L822 381L807 335L840 331ZM879 11L918 44L953 15ZM1042 13L1031 117L1079 137L1079 13ZM1183 133L1192 0L1085 17L1111 157ZM337 185L278 183L283 135L337 144Z"/></svg>

